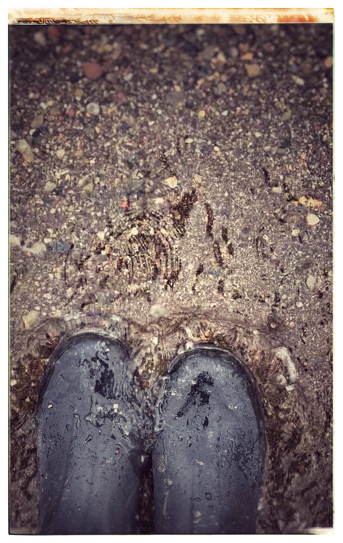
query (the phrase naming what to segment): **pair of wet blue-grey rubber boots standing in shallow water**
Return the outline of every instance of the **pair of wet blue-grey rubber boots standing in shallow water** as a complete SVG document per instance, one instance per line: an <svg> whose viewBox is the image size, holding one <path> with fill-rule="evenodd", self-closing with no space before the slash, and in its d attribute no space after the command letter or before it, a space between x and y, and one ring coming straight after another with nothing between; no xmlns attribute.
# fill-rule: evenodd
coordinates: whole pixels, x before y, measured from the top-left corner
<svg viewBox="0 0 343 543"><path fill-rule="evenodd" d="M255 533L265 431L250 373L200 344L161 378L150 414L144 397L119 340L60 342L39 400L40 533L142 533L147 458L150 533Z"/></svg>

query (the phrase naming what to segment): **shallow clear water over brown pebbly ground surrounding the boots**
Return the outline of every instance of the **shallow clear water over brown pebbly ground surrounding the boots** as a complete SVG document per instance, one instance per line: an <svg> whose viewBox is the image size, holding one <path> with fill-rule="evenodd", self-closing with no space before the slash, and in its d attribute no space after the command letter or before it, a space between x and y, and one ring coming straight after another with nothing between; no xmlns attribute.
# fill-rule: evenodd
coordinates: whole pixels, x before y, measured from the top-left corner
<svg viewBox="0 0 343 543"><path fill-rule="evenodd" d="M123 63L138 74L132 85L120 79L125 70L115 71L122 85L118 88L107 79L64 83L65 71L78 70L78 50L66 56L53 42L41 50L33 40L35 30L11 29L16 85L11 135L11 526L19 533L36 529L34 413L39 387L60 339L82 330L103 330L128 346L136 389L146 399L141 416L147 425L153 420L155 387L178 352L197 342L233 352L251 370L266 418L258 532L301 533L329 526L332 150L325 143L328 136L319 138L329 134L332 115L321 79L329 77L321 59L330 54L332 27L284 27L281 41L279 30L248 30L245 40L251 47L264 52L274 48L274 53L260 57L265 72L254 81L246 78L240 59L228 56L225 69L216 65L219 77L229 74L228 87L234 90L222 96L216 94L219 80L194 87L203 40L215 45L227 40L234 47L242 40L229 27L207 26L202 39L196 27L177 27L177 40L175 27L167 25L160 34L152 27L131 34L129 26L60 30L61 47L83 43L85 50L102 50L102 36L117 40ZM154 47L160 40L174 43L166 45L171 57L163 56L163 48L145 53L145 62L157 56L165 71L160 78L141 67L146 49L140 43L149 40ZM307 47L318 66L304 90L285 72L291 66L291 47L300 55L296 59ZM107 54L100 54L114 71ZM178 54L189 55L194 73L189 75L184 60L174 58ZM208 62L204 66L200 68L211 71ZM22 94L23 77L28 92L39 98L29 102ZM172 103L174 85L180 83L182 106ZM44 155L37 151L31 165L23 163L17 140L29 139L27 119L36 115L36 105L57 95L77 109L73 93L81 87L78 117L83 130L65 121L55 100L57 111L48 110L46 129L30 140L40 150L59 147L60 137L65 138L66 159L59 163L44 150ZM130 100L118 102L119 88ZM154 113L150 126L152 88L163 115ZM82 108L90 100L104 106L101 117L84 115ZM142 113L131 103L143 104ZM285 108L293 115L286 122L281 119ZM205 111L205 121L198 118L199 109ZM226 109L228 115L222 116ZM124 123L130 116L135 124L128 130ZM263 136L255 137L257 130ZM75 134L84 159L73 158L70 150ZM112 134L109 152L102 137ZM190 135L194 141L185 143ZM285 138L291 138L291 150L284 147ZM96 161L91 167L90 159ZM178 179L174 188L163 183L171 175ZM47 182L54 185L51 192ZM314 228L305 221L309 209L297 205L304 193L323 200L322 209L315 210L320 223ZM142 515L148 519L151 479L145 484Z"/></svg>

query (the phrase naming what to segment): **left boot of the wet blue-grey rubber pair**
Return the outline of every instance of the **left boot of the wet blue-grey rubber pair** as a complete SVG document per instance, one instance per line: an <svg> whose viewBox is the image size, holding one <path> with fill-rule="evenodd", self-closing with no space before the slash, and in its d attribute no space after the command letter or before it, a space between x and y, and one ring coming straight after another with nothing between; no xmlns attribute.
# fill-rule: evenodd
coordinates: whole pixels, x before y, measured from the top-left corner
<svg viewBox="0 0 343 543"><path fill-rule="evenodd" d="M139 531L139 412L128 352L81 333L49 361L38 411L41 534Z"/></svg>

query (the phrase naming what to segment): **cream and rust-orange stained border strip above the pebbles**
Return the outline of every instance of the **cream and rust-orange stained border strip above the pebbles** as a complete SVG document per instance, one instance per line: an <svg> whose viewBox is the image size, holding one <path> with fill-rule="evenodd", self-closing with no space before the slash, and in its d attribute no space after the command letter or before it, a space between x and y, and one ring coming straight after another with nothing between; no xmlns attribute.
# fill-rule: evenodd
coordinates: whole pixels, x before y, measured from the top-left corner
<svg viewBox="0 0 343 543"><path fill-rule="evenodd" d="M333 23L332 8L11 8L9 24Z"/></svg>

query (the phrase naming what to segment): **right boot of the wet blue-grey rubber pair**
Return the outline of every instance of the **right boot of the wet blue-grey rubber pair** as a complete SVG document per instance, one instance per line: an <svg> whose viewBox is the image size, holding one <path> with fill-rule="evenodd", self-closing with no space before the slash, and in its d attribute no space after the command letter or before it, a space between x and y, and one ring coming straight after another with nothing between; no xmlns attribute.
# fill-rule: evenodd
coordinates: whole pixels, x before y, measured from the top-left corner
<svg viewBox="0 0 343 543"><path fill-rule="evenodd" d="M157 419L154 533L254 533L264 460L250 373L214 345L183 353Z"/></svg>

